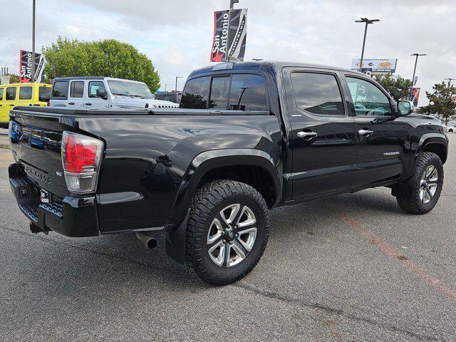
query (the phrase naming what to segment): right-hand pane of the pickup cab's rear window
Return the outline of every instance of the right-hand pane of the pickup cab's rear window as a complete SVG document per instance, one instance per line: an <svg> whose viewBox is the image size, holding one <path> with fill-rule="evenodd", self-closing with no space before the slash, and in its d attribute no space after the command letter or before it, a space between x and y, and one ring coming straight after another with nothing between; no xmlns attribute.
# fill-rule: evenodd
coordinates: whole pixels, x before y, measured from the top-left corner
<svg viewBox="0 0 456 342"><path fill-rule="evenodd" d="M259 75L234 74L229 109L267 110L264 78Z"/></svg>

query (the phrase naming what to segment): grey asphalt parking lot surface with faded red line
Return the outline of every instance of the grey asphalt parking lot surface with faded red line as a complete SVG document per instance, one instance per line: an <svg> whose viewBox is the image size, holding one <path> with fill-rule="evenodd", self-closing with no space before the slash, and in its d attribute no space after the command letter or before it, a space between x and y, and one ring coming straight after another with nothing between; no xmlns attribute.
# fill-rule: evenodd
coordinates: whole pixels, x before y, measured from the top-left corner
<svg viewBox="0 0 456 342"><path fill-rule="evenodd" d="M385 188L271 212L266 252L212 287L134 235L34 235L0 150L0 341L455 341L456 136L435 209Z"/></svg>

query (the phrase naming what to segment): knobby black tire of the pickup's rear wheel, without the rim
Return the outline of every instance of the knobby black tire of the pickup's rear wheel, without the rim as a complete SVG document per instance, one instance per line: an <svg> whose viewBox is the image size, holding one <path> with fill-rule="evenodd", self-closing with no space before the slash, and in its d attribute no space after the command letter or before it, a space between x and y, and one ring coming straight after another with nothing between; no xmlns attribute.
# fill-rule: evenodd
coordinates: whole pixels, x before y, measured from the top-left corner
<svg viewBox="0 0 456 342"><path fill-rule="evenodd" d="M231 204L247 205L257 220L252 250L239 264L219 266L209 257L209 229L220 210ZM199 187L190 204L185 241L185 261L199 278L212 285L227 285L246 276L257 265L269 237L269 211L253 187L232 180L215 180Z"/></svg>

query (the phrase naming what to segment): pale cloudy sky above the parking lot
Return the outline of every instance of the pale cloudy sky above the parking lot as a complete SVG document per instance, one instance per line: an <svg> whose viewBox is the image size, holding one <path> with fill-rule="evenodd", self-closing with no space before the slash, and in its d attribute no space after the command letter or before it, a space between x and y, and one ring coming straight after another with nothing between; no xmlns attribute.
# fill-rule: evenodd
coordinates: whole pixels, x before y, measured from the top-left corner
<svg viewBox="0 0 456 342"><path fill-rule="evenodd" d="M31 49L31 0L0 0L0 66L18 73L19 49ZM93 41L116 38L136 46L154 63L162 90L175 76L209 64L213 11L229 0L37 0L36 46L66 36ZM361 55L363 24L369 26L365 58L398 58L397 74L430 90L456 78L456 0L240 0L249 9L246 59L302 61L349 68ZM181 79L182 88L184 79ZM456 82L456 81L455 81ZM424 92L423 92L424 95ZM420 99L420 105L427 103Z"/></svg>

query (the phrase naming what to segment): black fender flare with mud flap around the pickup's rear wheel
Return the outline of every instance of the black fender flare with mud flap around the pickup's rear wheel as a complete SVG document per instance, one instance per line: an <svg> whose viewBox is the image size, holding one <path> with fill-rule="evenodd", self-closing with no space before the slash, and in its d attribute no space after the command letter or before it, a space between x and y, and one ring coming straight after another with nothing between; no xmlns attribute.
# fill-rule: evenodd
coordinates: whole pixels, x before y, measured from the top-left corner
<svg viewBox="0 0 456 342"><path fill-rule="evenodd" d="M190 202L202 177L217 167L253 165L266 170L273 180L276 192L276 205L281 199L283 182L279 157L271 157L267 152L254 149L211 150L197 155L185 172L175 203L168 219L166 231L166 253L180 264L185 263L185 231L190 216Z"/></svg>

